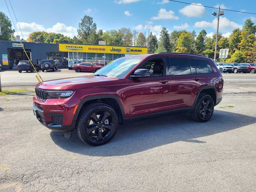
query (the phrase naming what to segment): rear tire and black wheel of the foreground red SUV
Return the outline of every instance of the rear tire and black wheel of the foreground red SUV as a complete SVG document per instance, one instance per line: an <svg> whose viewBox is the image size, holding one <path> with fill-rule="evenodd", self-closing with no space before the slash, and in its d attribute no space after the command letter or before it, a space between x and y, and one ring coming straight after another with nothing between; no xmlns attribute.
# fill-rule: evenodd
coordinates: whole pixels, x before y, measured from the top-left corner
<svg viewBox="0 0 256 192"><path fill-rule="evenodd" d="M191 117L198 122L207 122L212 117L213 111L214 101L212 97L208 94L200 94L196 101L196 105L191 112Z"/></svg>

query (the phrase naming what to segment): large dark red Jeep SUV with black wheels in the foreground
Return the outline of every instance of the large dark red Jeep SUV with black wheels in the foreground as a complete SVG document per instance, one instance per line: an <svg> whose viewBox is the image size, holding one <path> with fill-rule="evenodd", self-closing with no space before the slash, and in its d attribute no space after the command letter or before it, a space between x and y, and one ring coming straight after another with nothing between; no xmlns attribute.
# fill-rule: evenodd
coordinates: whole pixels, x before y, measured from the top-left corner
<svg viewBox="0 0 256 192"><path fill-rule="evenodd" d="M208 121L222 100L223 78L210 58L159 53L114 60L91 76L40 82L33 110L47 128L87 144L110 141L118 124L190 112Z"/></svg>

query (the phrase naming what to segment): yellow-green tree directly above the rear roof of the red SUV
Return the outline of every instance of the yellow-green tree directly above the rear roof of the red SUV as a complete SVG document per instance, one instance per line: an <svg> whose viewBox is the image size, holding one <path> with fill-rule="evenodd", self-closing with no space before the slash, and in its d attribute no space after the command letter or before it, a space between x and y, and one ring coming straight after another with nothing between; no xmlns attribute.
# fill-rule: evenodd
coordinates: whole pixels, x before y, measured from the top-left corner
<svg viewBox="0 0 256 192"><path fill-rule="evenodd" d="M182 52L182 53L194 53L194 36L190 32L183 32L180 34L177 45L176 45L176 52Z"/></svg>

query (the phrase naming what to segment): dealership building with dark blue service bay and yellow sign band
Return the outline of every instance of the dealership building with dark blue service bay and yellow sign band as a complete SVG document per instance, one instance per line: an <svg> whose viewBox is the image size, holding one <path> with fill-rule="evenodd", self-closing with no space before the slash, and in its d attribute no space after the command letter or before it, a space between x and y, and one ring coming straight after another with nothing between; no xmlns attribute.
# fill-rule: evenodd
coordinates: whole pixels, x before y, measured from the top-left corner
<svg viewBox="0 0 256 192"><path fill-rule="evenodd" d="M34 63L52 59L58 68L72 69L74 64L95 62L98 60L111 62L120 57L147 54L146 47L86 45L86 44L54 44L22 42L28 56ZM28 60L20 42L0 41L0 64L2 69L16 69L21 60Z"/></svg>

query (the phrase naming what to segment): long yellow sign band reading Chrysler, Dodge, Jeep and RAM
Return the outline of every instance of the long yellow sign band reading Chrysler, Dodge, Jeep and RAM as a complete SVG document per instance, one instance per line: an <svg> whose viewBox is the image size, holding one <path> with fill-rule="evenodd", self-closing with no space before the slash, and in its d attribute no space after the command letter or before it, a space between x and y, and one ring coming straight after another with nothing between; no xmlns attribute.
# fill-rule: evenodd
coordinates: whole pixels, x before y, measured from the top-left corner
<svg viewBox="0 0 256 192"><path fill-rule="evenodd" d="M147 54L146 47L59 44L59 50L65 52Z"/></svg>

